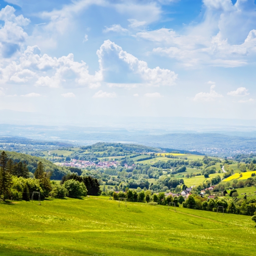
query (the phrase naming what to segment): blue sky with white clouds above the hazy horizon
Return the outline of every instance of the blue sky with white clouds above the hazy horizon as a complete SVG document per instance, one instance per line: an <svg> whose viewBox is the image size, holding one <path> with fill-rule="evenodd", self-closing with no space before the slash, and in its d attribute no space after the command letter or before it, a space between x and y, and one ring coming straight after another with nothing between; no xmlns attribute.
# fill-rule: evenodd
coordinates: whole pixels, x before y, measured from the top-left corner
<svg viewBox="0 0 256 256"><path fill-rule="evenodd" d="M255 119L253 0L2 0L0 24L0 110Z"/></svg>

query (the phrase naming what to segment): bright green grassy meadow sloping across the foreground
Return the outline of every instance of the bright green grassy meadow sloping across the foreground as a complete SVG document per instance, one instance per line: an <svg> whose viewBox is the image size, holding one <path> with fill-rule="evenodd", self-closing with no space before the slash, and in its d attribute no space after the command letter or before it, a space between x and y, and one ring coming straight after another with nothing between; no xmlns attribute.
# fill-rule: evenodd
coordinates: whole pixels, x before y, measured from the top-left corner
<svg viewBox="0 0 256 256"><path fill-rule="evenodd" d="M0 204L0 255L256 255L250 216L101 198Z"/></svg>

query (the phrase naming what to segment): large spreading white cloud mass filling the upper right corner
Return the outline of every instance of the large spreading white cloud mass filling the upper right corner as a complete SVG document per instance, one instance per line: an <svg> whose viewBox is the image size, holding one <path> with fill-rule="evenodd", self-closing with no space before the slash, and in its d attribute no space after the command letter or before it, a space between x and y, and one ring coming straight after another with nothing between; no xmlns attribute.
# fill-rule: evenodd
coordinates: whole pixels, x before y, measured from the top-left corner
<svg viewBox="0 0 256 256"><path fill-rule="evenodd" d="M204 0L201 22L184 34L173 29L141 31L136 37L160 44L153 53L178 60L185 67L239 67L256 57L256 4L253 1Z"/></svg>

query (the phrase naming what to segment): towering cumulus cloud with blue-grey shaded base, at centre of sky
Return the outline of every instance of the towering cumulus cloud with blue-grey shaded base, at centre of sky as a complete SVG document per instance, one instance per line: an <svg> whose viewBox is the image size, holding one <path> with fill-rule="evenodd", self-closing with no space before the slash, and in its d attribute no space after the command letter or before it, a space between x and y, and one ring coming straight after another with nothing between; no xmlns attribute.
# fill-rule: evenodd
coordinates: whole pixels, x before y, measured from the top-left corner
<svg viewBox="0 0 256 256"><path fill-rule="evenodd" d="M104 41L97 55L104 81L110 84L171 86L178 77L169 69L149 68L145 61L138 60L110 40Z"/></svg>

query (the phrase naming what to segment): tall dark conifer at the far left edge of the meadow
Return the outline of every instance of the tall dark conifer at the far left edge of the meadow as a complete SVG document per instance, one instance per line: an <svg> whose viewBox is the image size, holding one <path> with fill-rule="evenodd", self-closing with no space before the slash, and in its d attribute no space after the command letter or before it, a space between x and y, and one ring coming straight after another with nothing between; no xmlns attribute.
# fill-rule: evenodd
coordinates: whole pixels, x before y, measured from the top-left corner
<svg viewBox="0 0 256 256"><path fill-rule="evenodd" d="M8 156L3 151L0 154L0 195L3 195L3 201L10 191L11 175L7 169Z"/></svg>

